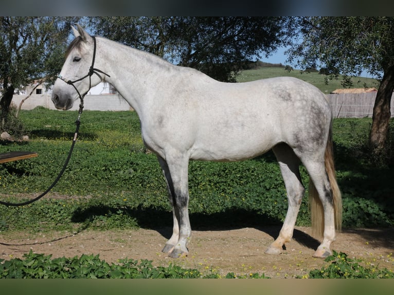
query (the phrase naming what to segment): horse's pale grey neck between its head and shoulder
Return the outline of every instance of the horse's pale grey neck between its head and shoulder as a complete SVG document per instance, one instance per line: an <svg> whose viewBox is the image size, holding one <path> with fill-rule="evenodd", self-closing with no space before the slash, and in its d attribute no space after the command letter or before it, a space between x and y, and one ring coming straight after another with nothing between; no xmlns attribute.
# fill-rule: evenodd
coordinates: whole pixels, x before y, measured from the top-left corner
<svg viewBox="0 0 394 295"><path fill-rule="evenodd" d="M104 71L111 76L106 81L111 83L140 115L144 109L154 104L150 101L153 97L152 91L160 91L163 79L167 79L166 73L174 66L132 47L108 39L100 41L103 46L104 67L107 69Z"/></svg>

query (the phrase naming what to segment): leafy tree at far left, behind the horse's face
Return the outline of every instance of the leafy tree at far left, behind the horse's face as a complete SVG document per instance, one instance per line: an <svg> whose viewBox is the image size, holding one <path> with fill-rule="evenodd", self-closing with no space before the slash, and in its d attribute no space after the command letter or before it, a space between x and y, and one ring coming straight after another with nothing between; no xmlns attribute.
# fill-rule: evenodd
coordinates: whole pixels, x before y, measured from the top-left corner
<svg viewBox="0 0 394 295"><path fill-rule="evenodd" d="M63 61L75 17L0 17L0 129L14 91L45 78L51 83Z"/></svg>

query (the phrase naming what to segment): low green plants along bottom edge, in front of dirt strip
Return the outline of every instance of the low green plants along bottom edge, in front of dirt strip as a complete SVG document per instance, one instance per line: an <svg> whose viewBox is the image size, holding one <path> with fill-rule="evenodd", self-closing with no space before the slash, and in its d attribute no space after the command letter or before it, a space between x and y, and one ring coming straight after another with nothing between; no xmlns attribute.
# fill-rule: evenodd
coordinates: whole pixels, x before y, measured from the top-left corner
<svg viewBox="0 0 394 295"><path fill-rule="evenodd" d="M393 279L394 272L361 260L350 259L347 254L333 251L321 269L313 269L310 279ZM153 261L121 259L107 263L99 255L82 254L80 257L58 257L29 253L23 259L0 259L0 279L219 279L222 276L212 269L202 273L198 269L184 269L170 263L153 266ZM227 273L226 279L268 279L264 273ZM299 277L298 277L299 278Z"/></svg>

